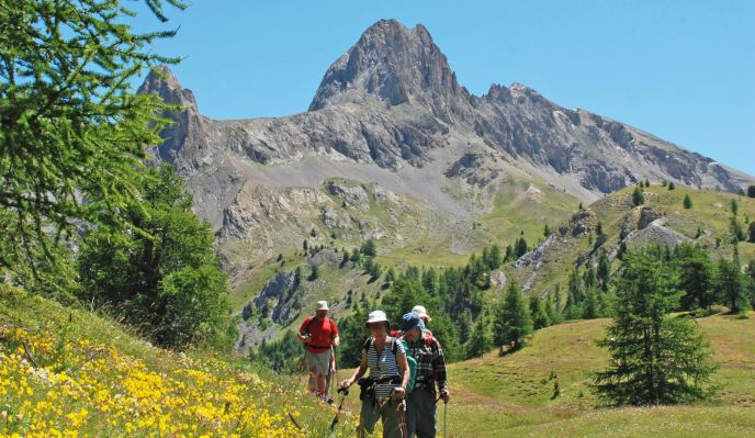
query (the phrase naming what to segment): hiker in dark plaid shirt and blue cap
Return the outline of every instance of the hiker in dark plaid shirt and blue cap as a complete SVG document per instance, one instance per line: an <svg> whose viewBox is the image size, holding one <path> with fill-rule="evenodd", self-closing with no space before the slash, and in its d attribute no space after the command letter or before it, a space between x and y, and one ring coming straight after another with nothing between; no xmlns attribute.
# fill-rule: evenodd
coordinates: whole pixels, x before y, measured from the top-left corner
<svg viewBox="0 0 755 438"><path fill-rule="evenodd" d="M422 313L429 321L427 312ZM435 438L436 385L443 403L450 400L443 350L438 339L425 328L422 317L415 312L402 317L401 330L408 346L407 353L417 361L414 390L406 396L407 438Z"/></svg>

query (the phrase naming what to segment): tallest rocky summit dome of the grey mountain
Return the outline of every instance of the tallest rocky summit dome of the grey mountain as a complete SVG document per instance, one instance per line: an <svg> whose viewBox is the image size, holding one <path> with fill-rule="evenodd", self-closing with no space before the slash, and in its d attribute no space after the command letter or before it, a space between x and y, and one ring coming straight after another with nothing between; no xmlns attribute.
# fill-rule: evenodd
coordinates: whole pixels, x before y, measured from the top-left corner
<svg viewBox="0 0 755 438"><path fill-rule="evenodd" d="M408 29L395 20L370 26L328 68L309 111L342 102L363 104L370 97L390 105L425 105L443 120L470 99L427 29Z"/></svg>

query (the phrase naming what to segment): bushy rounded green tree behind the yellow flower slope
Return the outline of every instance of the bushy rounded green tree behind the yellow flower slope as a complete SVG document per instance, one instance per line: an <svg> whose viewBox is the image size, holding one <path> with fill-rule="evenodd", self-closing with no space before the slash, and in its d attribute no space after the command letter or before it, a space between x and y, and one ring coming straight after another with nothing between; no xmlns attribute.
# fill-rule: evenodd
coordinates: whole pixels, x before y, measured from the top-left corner
<svg viewBox="0 0 755 438"><path fill-rule="evenodd" d="M122 212L137 229L101 224L84 238L80 297L113 308L160 345L222 339L227 281L210 224L191 212L191 193L169 166L149 169L139 191L142 205Z"/></svg>

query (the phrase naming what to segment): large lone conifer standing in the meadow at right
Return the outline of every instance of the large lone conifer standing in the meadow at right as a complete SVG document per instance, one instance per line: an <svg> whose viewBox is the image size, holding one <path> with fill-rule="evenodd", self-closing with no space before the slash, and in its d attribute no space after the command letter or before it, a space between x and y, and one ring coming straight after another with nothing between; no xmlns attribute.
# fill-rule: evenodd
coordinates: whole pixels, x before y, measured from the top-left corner
<svg viewBox="0 0 755 438"><path fill-rule="evenodd" d="M669 315L678 306L675 269L658 248L624 255L617 314L600 346L609 367L594 389L608 405L686 403L710 395L714 367L696 324Z"/></svg>

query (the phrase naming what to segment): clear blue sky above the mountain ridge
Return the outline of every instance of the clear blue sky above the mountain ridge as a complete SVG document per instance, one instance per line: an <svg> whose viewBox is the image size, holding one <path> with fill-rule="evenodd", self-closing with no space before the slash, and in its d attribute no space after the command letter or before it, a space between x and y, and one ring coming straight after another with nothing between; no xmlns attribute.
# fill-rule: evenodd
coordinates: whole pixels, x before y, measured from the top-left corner
<svg viewBox="0 0 755 438"><path fill-rule="evenodd" d="M755 1L241 1L168 8L156 50L214 119L306 111L380 19L424 24L461 85L521 82L755 175ZM164 29L142 14L139 30Z"/></svg>

